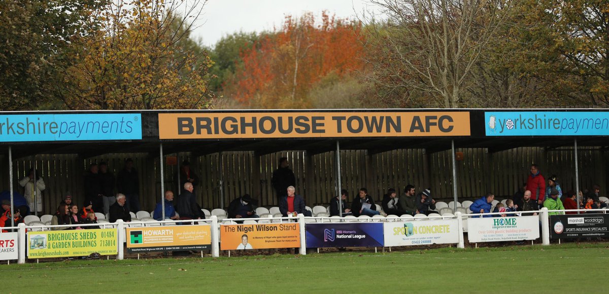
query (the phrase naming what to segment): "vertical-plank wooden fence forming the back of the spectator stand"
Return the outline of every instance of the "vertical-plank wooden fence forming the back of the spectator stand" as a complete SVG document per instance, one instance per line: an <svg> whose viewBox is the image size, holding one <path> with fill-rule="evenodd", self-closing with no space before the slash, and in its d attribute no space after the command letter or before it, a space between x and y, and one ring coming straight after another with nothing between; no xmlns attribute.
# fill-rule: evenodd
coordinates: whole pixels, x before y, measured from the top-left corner
<svg viewBox="0 0 609 294"><path fill-rule="evenodd" d="M486 149L457 149L463 159L457 161L457 195L460 200L481 197L487 191L498 198L512 195L526 181L531 163L540 165L544 177L557 175L563 191L575 189L575 163L572 148L550 149L517 148L488 153ZM598 183L602 194L608 184L608 161L603 149L585 147L579 150L580 189ZM224 207L231 200L248 193L259 200L261 206L277 205L271 178L278 159L287 157L296 176L297 194L305 197L308 206L327 205L337 189L336 152L308 155L304 151L289 151L255 156L253 152L224 152L222 155L193 157L190 153L178 153L177 162L191 162L200 178L195 188L203 208L219 208L220 195L224 195ZM79 158L77 155L37 155L13 161L13 187L23 194L18 180L26 176L30 167L36 166L43 176L46 189L43 192L44 212L53 212L66 192L71 192L78 205L82 205L83 177L92 162L106 161L114 175L124 165L126 158L133 158L139 173L140 202L143 209L152 211L161 198L160 159L143 153L115 153L95 158ZM357 194L360 187L367 187L375 200L381 200L387 188L395 188L399 194L406 184L414 184L417 190L431 187L437 200L452 199L451 152L426 154L423 149L399 149L368 155L365 150L340 152L341 187ZM7 155L0 156L0 189L9 189ZM178 191L178 165L164 166L165 189ZM222 183L222 191L220 190Z"/></svg>

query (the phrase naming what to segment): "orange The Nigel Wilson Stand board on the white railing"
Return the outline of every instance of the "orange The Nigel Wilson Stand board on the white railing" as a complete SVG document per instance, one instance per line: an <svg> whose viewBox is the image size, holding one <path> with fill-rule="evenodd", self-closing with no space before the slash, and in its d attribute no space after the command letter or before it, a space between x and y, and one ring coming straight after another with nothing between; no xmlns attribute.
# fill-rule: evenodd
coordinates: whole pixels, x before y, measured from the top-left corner
<svg viewBox="0 0 609 294"><path fill-rule="evenodd" d="M300 247L298 223L220 226L220 250L295 247Z"/></svg>

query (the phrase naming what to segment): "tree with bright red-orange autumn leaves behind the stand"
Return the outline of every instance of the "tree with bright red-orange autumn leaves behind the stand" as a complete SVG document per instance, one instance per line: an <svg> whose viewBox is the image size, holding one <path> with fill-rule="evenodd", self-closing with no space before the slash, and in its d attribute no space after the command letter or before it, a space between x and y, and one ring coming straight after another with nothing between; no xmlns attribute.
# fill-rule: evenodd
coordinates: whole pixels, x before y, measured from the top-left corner
<svg viewBox="0 0 609 294"><path fill-rule="evenodd" d="M362 68L361 25L322 14L287 16L283 26L242 52L233 97L250 107L311 106L308 96L328 74L338 77Z"/></svg>

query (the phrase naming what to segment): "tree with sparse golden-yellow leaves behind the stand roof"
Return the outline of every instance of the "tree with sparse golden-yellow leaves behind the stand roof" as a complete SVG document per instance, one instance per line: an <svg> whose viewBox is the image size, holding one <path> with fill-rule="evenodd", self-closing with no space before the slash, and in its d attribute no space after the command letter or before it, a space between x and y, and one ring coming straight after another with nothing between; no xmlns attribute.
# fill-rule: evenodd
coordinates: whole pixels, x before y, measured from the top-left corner
<svg viewBox="0 0 609 294"><path fill-rule="evenodd" d="M62 98L71 109L208 108L211 61L190 39L206 1L113 1L74 44ZM181 12L178 13L178 12ZM99 24L94 27L94 24Z"/></svg>

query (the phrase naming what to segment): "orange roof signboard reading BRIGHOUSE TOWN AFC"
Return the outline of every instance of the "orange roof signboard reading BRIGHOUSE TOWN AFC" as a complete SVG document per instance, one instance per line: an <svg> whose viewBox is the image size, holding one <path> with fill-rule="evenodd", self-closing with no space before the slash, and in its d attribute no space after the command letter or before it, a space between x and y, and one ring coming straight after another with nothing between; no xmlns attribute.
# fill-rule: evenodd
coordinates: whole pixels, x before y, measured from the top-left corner
<svg viewBox="0 0 609 294"><path fill-rule="evenodd" d="M470 113L160 113L160 139L470 136Z"/></svg>

